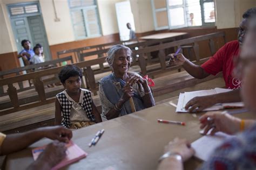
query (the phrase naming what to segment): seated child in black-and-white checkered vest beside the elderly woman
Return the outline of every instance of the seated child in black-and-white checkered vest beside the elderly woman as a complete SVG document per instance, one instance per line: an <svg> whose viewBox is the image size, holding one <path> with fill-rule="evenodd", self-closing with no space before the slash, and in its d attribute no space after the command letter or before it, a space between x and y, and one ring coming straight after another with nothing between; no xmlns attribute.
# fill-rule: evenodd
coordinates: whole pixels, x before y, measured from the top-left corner
<svg viewBox="0 0 256 170"><path fill-rule="evenodd" d="M92 101L91 91L81 87L82 70L75 65L66 65L59 73L65 90L56 95L55 124L79 129L98 122L102 118ZM62 118L63 115L63 118Z"/></svg>

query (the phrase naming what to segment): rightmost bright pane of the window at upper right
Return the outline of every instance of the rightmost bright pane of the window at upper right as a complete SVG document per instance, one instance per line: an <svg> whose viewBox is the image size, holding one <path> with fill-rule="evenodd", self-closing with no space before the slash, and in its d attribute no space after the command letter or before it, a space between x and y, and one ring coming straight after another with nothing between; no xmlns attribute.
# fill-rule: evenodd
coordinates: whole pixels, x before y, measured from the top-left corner
<svg viewBox="0 0 256 170"><path fill-rule="evenodd" d="M214 2L205 2L203 6L204 6L204 22L214 23L215 22Z"/></svg>

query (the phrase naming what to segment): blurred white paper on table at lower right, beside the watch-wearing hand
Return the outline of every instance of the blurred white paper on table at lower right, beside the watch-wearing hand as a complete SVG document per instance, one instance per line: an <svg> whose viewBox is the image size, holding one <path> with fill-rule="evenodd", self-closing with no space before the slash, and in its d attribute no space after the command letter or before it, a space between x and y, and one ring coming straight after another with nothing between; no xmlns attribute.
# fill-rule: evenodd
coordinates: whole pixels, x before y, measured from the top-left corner
<svg viewBox="0 0 256 170"><path fill-rule="evenodd" d="M194 156L200 160L207 161L211 157L211 154L214 152L214 150L220 146L224 140L231 137L233 136L223 132L217 132L214 134L214 136L207 134L197 139L191 144L191 147L196 151Z"/></svg>

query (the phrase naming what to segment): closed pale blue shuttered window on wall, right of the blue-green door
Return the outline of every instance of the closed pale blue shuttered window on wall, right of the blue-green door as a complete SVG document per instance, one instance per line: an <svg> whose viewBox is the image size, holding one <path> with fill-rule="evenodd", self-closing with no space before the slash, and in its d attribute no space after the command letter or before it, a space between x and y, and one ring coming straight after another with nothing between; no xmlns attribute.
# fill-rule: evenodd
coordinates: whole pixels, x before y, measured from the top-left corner
<svg viewBox="0 0 256 170"><path fill-rule="evenodd" d="M101 36L96 0L69 0L76 39Z"/></svg>

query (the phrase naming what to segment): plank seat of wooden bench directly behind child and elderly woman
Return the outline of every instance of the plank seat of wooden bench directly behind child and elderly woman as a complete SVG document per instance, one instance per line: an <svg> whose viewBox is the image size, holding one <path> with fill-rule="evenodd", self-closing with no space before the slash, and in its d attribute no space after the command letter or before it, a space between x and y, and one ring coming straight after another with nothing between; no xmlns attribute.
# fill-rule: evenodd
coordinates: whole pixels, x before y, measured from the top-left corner
<svg viewBox="0 0 256 170"><path fill-rule="evenodd" d="M172 91L193 87L198 83L215 79L217 76L208 76L206 79L195 79L188 73L179 72L154 79L156 86L152 87L154 97L171 93ZM93 96L93 102L97 109L101 112L101 104L99 95ZM161 103L156 100L156 103ZM26 109L25 111L17 111L11 114L0 116L0 131L5 133L22 132L30 129L39 128L54 124L55 104L52 101L49 104L40 105L36 108Z"/></svg>

